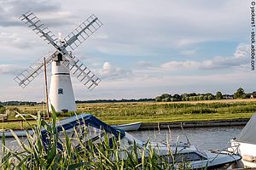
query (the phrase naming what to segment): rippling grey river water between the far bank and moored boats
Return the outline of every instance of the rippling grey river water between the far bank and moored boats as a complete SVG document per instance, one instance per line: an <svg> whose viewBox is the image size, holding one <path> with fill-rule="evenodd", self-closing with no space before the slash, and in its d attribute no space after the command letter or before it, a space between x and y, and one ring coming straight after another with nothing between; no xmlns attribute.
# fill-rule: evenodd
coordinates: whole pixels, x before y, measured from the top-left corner
<svg viewBox="0 0 256 170"><path fill-rule="evenodd" d="M137 139L143 141L166 141L172 143L176 140L186 142L185 134L189 139L190 144L194 144L201 150L222 150L230 146L229 141L232 137L236 137L243 126L232 127L195 127L181 129L165 129L165 130L148 130L131 132ZM25 139L25 138L23 138ZM1 142L2 143L2 142ZM6 145L9 149L17 149L17 143L14 138L7 138ZM1 151L0 151L1 152ZM1 153L0 153L1 155Z"/></svg>

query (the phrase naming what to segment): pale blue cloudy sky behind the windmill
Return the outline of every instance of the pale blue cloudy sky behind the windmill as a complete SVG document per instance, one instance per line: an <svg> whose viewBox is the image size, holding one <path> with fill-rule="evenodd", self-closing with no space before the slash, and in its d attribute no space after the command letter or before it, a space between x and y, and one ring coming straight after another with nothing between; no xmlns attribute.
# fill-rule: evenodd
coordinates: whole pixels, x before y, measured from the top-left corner
<svg viewBox="0 0 256 170"><path fill-rule="evenodd" d="M29 10L56 36L65 37L90 14L102 21L73 51L102 79L90 91L72 77L77 100L256 91L250 5L244 0L0 0L0 101L45 100L43 74L26 88L14 81L54 49L18 19Z"/></svg>

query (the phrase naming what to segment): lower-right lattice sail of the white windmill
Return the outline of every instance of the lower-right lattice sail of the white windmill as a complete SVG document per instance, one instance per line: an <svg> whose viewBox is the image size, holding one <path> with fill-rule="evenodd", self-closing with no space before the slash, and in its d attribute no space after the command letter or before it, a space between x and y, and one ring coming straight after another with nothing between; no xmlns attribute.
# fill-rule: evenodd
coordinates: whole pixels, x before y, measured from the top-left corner
<svg viewBox="0 0 256 170"><path fill-rule="evenodd" d="M101 79L96 77L96 75L90 71L79 59L75 56L69 56L67 59L72 58L72 60L63 61L63 65L67 67L67 69L73 73L75 77L78 78L80 82L84 84L86 88L92 90L95 88L100 82Z"/></svg>

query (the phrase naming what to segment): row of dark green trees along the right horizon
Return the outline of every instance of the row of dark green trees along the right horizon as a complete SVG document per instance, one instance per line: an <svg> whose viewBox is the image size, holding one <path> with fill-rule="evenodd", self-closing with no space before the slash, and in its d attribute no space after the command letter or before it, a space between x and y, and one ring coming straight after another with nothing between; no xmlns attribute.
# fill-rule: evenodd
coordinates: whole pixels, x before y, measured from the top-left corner
<svg viewBox="0 0 256 170"><path fill-rule="evenodd" d="M162 94L155 97L155 101L196 101L196 100L212 100L212 99L249 99L256 98L256 92L246 94L243 88L238 88L234 94L222 94L218 91L215 95L207 94Z"/></svg>

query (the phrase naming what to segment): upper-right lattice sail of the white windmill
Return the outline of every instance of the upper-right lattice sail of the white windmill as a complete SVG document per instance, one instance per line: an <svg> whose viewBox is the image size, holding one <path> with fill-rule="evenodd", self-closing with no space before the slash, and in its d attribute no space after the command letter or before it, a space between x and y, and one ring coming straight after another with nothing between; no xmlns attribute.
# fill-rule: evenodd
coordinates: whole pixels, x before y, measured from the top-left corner
<svg viewBox="0 0 256 170"><path fill-rule="evenodd" d="M102 26L102 22L92 14L87 20L84 20L73 32L64 38L66 44L65 48L69 47L75 49L79 47L88 37L90 37L97 29Z"/></svg>

